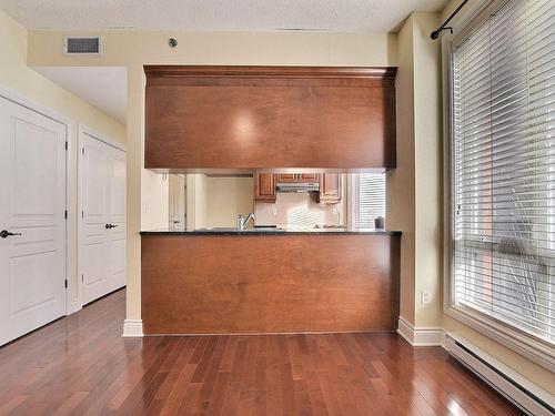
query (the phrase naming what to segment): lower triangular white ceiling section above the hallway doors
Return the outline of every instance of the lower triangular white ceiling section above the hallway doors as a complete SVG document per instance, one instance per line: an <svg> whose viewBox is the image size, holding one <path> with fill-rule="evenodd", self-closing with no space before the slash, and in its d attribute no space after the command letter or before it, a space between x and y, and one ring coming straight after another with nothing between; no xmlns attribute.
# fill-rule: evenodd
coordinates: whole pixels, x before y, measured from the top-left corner
<svg viewBox="0 0 555 416"><path fill-rule="evenodd" d="M58 85L127 124L128 73L122 67L36 67Z"/></svg>

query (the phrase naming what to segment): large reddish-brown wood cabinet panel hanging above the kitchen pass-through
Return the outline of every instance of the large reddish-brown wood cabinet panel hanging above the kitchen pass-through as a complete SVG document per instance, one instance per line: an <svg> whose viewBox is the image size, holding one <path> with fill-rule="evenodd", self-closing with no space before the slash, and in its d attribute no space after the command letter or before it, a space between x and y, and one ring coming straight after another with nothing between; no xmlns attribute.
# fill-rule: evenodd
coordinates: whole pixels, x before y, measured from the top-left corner
<svg viewBox="0 0 555 416"><path fill-rule="evenodd" d="M144 71L148 169L395 168L394 68Z"/></svg>

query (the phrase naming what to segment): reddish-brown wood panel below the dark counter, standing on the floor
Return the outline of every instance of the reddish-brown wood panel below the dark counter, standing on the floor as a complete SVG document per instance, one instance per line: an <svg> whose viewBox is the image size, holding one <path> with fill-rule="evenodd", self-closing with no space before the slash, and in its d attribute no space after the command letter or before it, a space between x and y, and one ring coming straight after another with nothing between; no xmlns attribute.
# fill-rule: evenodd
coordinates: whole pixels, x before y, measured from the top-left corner
<svg viewBox="0 0 555 416"><path fill-rule="evenodd" d="M400 236L143 235L145 334L395 329Z"/></svg>

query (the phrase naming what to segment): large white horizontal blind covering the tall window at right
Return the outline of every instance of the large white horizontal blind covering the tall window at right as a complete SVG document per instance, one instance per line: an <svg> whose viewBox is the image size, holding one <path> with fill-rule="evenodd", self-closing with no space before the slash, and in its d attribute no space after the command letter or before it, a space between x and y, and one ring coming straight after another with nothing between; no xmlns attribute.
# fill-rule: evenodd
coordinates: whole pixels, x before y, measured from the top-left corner
<svg viewBox="0 0 555 416"><path fill-rule="evenodd" d="M453 296L555 342L555 4L509 0L453 49Z"/></svg>

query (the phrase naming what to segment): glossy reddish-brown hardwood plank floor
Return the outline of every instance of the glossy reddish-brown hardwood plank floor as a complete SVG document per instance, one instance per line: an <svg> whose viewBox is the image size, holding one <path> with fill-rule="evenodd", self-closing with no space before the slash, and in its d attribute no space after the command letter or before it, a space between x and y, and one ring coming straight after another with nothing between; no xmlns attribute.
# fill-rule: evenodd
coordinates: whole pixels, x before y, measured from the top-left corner
<svg viewBox="0 0 555 416"><path fill-rule="evenodd" d="M122 338L124 296L0 348L0 414L518 414L394 333Z"/></svg>

